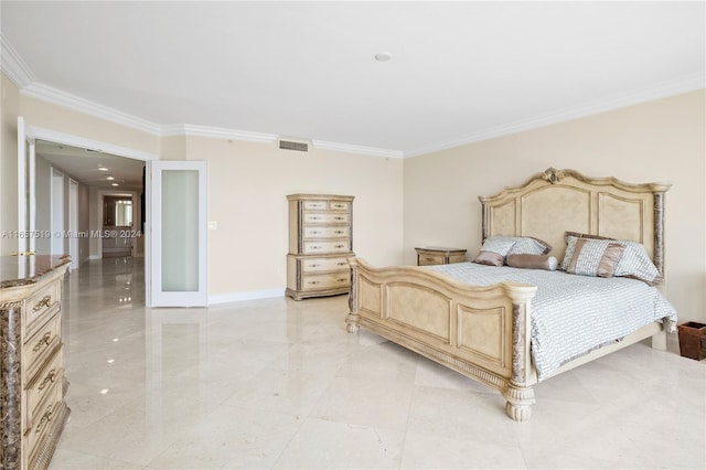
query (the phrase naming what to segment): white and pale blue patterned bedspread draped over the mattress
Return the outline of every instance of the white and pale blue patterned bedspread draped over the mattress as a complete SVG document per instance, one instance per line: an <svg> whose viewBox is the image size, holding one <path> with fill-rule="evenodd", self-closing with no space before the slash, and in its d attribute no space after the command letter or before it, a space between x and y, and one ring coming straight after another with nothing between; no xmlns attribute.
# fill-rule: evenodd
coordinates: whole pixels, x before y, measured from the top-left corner
<svg viewBox="0 0 706 470"><path fill-rule="evenodd" d="M532 355L541 382L566 362L653 321L676 325L672 305L654 287L628 278L600 278L475 263L428 266L462 282L490 286L511 280L537 286L531 302Z"/></svg>

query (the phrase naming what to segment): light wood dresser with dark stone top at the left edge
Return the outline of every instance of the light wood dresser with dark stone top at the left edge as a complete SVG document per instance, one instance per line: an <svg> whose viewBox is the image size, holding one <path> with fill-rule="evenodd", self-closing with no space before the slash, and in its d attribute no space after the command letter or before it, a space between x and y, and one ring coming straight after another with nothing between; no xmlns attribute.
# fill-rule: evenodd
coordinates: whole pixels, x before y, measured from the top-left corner
<svg viewBox="0 0 706 470"><path fill-rule="evenodd" d="M68 257L0 257L0 469L46 469L68 419L62 279Z"/></svg>

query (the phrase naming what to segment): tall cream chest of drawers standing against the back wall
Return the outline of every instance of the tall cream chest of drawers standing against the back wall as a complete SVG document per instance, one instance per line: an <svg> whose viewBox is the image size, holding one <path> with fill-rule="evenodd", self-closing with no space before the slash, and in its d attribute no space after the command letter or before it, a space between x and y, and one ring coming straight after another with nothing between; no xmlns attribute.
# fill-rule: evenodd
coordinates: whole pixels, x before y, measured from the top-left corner
<svg viewBox="0 0 706 470"><path fill-rule="evenodd" d="M295 300L347 293L353 256L350 195L290 194L287 295Z"/></svg>

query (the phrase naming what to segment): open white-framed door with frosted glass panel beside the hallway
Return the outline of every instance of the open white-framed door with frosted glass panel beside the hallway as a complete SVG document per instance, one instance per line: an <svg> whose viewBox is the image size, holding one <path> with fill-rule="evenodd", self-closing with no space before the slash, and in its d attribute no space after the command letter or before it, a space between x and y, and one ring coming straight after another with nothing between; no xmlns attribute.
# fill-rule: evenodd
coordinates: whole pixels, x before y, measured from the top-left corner
<svg viewBox="0 0 706 470"><path fill-rule="evenodd" d="M204 307L206 163L153 161L148 184L149 307Z"/></svg>

